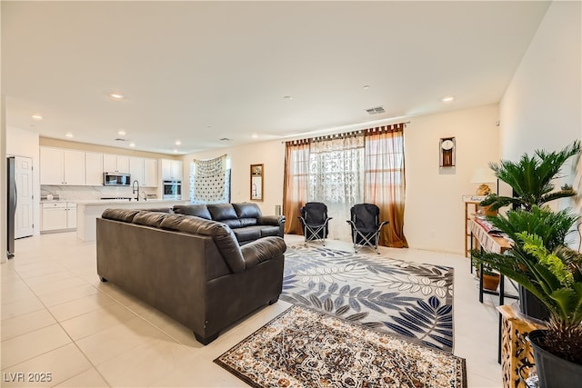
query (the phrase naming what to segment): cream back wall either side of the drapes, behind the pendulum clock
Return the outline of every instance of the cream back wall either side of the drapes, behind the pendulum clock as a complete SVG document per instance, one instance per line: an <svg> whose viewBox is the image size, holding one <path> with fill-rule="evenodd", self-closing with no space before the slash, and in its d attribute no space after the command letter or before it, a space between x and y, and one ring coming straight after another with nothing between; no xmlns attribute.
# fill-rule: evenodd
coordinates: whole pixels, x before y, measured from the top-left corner
<svg viewBox="0 0 582 388"><path fill-rule="evenodd" d="M477 184L469 183L475 169L498 159L497 119L495 104L413 117L406 126L405 234L411 247L463 253L462 196L477 190ZM438 142L449 136L457 138L457 167L447 170L449 174L440 174ZM232 161L233 202L249 201L250 165L265 164L265 201L258 204L263 214L275 214L275 205L283 203L285 144L270 141L188 154L185 169L193 158L211 159L222 154L228 154Z"/></svg>

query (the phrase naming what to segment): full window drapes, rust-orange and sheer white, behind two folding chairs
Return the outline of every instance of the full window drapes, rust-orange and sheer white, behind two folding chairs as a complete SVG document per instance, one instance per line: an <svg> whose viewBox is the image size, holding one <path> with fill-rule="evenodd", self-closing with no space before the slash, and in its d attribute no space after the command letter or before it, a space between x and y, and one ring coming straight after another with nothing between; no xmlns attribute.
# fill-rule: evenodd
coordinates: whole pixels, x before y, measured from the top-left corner
<svg viewBox="0 0 582 388"><path fill-rule="evenodd" d="M351 241L349 209L370 203L380 208L380 244L407 247L404 235L405 124L370 128L361 134L325 136L286 143L284 213L286 234L303 234L297 220L306 202L323 202L332 239Z"/></svg>

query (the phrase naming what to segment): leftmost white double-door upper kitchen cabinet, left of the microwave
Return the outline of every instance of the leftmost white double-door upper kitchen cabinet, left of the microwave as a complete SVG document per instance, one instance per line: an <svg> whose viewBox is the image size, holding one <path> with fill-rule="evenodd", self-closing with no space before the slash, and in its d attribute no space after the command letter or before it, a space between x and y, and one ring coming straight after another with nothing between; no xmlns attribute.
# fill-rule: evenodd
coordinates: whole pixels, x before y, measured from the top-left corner
<svg viewBox="0 0 582 388"><path fill-rule="evenodd" d="M84 185L85 153L40 147L40 184Z"/></svg>

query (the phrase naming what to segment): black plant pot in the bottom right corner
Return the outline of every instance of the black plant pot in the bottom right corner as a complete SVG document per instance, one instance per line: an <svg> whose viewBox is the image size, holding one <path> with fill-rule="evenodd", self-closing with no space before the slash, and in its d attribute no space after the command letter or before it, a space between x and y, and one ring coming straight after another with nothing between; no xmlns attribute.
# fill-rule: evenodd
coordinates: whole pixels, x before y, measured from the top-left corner
<svg viewBox="0 0 582 388"><path fill-rule="evenodd" d="M527 339L534 349L539 387L564 388L582 382L582 365L557 357L539 345L545 335L545 330L534 330L527 334Z"/></svg>

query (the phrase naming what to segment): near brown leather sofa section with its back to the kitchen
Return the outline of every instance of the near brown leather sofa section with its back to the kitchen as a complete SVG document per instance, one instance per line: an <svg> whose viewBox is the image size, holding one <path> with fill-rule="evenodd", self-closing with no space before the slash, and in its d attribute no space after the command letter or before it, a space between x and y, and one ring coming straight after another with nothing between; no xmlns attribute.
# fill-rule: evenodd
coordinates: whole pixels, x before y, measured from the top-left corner
<svg viewBox="0 0 582 388"><path fill-rule="evenodd" d="M240 246L226 224L143 210L107 209L96 223L101 280L183 323L200 343L281 293L280 237Z"/></svg>

